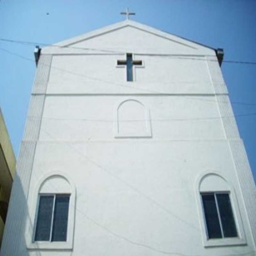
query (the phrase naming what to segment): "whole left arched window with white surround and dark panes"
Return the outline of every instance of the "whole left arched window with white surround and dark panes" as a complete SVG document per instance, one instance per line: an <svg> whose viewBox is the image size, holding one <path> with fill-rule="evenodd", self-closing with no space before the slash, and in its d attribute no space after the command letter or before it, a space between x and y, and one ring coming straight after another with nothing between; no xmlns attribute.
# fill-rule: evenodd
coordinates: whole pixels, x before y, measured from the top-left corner
<svg viewBox="0 0 256 256"><path fill-rule="evenodd" d="M28 248L70 249L73 246L76 189L66 176L49 175L37 184L34 226Z"/></svg>

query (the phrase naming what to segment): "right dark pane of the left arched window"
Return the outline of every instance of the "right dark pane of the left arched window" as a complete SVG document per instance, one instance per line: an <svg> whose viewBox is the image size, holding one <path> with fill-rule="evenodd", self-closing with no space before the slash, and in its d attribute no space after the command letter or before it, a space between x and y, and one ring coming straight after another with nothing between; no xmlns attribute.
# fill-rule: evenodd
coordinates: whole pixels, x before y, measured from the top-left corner
<svg viewBox="0 0 256 256"><path fill-rule="evenodd" d="M66 241L69 195L56 195L52 227L52 241Z"/></svg>

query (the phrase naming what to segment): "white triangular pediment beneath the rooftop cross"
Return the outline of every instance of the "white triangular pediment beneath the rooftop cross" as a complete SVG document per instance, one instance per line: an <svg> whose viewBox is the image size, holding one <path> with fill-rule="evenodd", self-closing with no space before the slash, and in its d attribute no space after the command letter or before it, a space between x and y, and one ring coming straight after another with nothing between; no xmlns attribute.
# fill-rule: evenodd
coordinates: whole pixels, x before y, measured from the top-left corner
<svg viewBox="0 0 256 256"><path fill-rule="evenodd" d="M57 46L57 47L56 47ZM53 47L89 52L139 52L148 54L212 54L213 49L141 23L124 20L81 36L61 41ZM44 49L45 51L46 49ZM52 49L53 50L53 49Z"/></svg>

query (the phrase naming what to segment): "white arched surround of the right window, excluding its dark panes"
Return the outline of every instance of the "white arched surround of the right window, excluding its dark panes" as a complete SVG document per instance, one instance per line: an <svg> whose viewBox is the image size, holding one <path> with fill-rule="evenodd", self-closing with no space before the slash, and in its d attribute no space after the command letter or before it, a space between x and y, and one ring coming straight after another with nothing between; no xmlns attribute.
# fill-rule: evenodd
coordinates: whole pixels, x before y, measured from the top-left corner
<svg viewBox="0 0 256 256"><path fill-rule="evenodd" d="M236 191L233 186L227 181L227 179L218 172L204 172L197 177L195 192L204 247L246 244L243 222L236 198ZM238 236L229 238L209 239L207 237L207 231L205 226L206 222L201 194L221 192L229 193Z"/></svg>

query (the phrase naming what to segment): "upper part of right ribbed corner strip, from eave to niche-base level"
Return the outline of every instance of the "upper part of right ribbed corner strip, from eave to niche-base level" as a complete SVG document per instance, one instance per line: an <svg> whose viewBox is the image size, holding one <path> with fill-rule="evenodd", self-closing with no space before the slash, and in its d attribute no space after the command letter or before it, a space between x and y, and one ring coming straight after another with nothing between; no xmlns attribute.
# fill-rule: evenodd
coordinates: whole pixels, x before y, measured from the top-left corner
<svg viewBox="0 0 256 256"><path fill-rule="evenodd" d="M217 57L208 57L207 63L227 139L239 139L240 135L236 125L236 119L229 96L227 95L227 86L224 82Z"/></svg>

